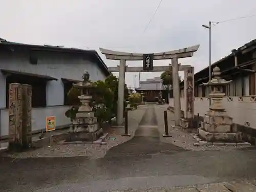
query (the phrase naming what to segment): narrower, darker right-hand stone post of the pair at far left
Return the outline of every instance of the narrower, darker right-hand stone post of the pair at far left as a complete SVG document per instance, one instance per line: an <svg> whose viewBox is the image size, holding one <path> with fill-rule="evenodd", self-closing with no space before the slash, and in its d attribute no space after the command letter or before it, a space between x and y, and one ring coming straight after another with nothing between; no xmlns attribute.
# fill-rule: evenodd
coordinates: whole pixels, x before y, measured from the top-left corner
<svg viewBox="0 0 256 192"><path fill-rule="evenodd" d="M23 147L29 147L32 142L31 137L31 99L32 99L32 87L29 84L22 85L22 98L23 98Z"/></svg>

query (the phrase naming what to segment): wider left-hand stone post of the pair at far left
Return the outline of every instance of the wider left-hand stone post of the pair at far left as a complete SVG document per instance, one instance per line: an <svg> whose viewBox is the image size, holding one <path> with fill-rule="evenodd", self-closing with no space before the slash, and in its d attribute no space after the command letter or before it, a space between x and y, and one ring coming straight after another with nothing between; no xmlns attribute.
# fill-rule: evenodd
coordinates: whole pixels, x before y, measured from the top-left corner
<svg viewBox="0 0 256 192"><path fill-rule="evenodd" d="M22 86L11 83L9 87L9 149L20 150L22 141Z"/></svg>

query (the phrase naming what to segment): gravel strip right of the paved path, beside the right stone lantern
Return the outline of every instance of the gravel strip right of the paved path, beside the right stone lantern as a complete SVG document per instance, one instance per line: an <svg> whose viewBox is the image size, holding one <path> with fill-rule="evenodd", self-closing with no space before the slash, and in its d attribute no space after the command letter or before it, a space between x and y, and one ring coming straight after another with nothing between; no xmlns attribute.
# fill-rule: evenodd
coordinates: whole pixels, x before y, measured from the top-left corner
<svg viewBox="0 0 256 192"><path fill-rule="evenodd" d="M156 105L156 114L158 120L158 129L161 134L164 134L164 117L163 111L167 110L168 105ZM181 130L180 128L173 128L174 125L174 113L167 111L169 134L173 137L164 138L161 137L162 142L173 143L186 150L191 151L207 151L207 150L233 150L237 148L248 148L248 146L233 146L233 145L207 145L207 146L195 146L194 143L197 141L193 138L193 134ZM249 146L253 147L253 146Z"/></svg>

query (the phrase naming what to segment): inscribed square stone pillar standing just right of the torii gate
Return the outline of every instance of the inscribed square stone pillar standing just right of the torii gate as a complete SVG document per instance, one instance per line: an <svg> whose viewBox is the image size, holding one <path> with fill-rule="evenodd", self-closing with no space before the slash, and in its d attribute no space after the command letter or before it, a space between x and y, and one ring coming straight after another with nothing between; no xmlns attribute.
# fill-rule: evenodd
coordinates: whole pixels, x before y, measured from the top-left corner
<svg viewBox="0 0 256 192"><path fill-rule="evenodd" d="M184 119L181 119L182 128L192 128L194 119L194 67L189 67L184 73Z"/></svg>

